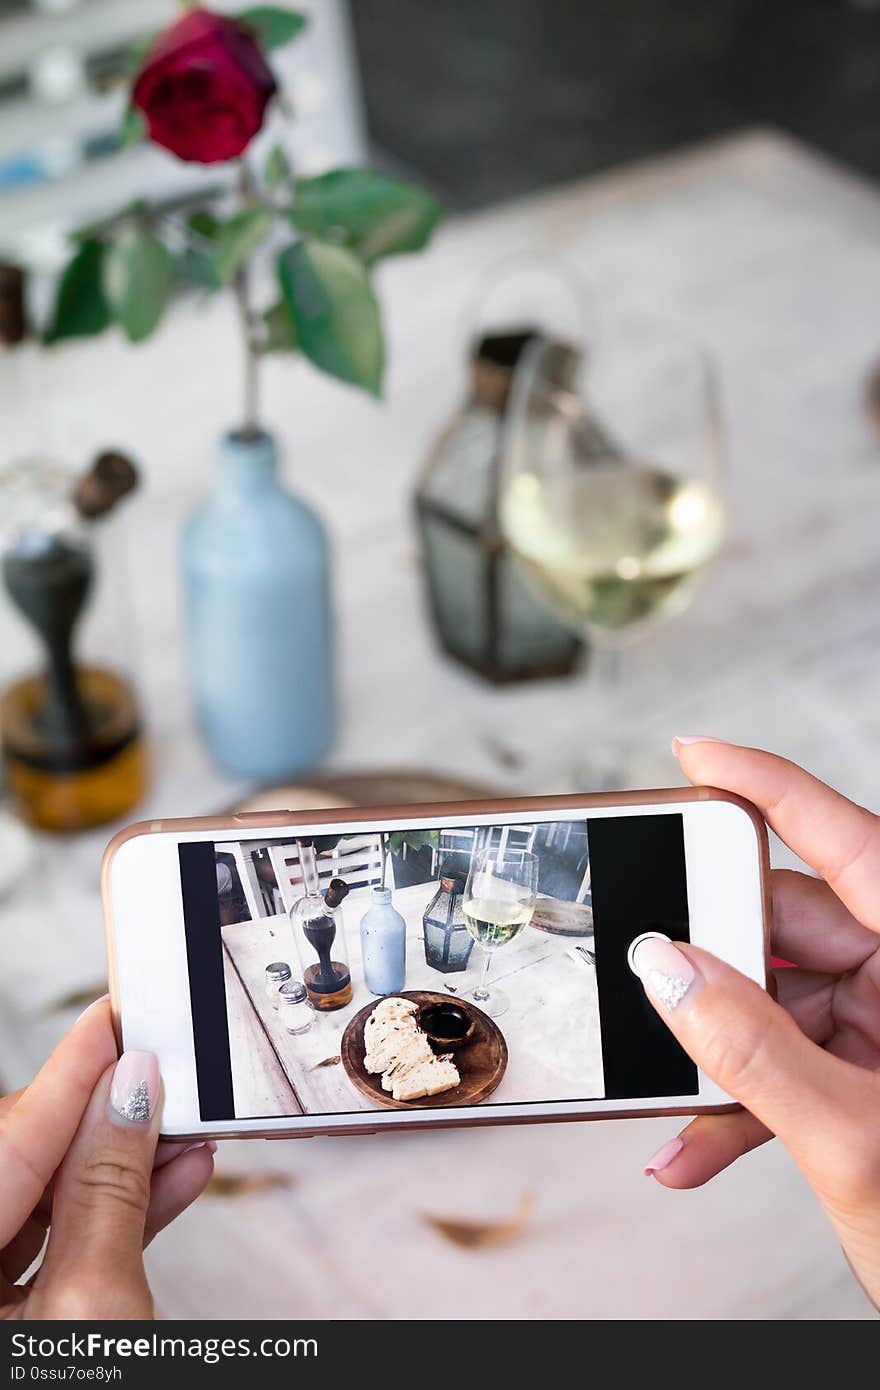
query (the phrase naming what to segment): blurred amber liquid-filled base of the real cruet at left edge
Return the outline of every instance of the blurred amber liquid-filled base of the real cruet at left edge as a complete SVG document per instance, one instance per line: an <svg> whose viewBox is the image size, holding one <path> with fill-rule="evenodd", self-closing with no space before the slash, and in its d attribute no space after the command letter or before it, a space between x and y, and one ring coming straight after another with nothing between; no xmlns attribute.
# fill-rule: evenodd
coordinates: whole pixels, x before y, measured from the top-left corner
<svg viewBox="0 0 880 1390"><path fill-rule="evenodd" d="M38 830L86 830L127 815L147 787L149 767L131 685L85 667L78 688L89 712L82 745L58 751L40 733L44 678L29 676L0 695L6 788L14 810Z"/></svg>

